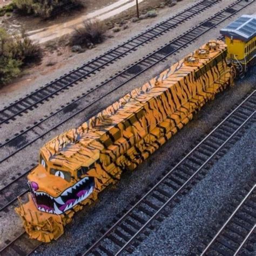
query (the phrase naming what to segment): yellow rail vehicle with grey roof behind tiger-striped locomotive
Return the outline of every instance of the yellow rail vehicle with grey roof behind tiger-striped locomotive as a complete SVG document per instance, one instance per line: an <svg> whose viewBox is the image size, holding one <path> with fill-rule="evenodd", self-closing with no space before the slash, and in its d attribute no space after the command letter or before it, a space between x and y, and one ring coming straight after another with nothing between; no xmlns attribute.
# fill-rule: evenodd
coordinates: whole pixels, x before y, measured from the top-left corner
<svg viewBox="0 0 256 256"><path fill-rule="evenodd" d="M242 15L220 33L225 36L227 59L243 77L256 56L256 15Z"/></svg>

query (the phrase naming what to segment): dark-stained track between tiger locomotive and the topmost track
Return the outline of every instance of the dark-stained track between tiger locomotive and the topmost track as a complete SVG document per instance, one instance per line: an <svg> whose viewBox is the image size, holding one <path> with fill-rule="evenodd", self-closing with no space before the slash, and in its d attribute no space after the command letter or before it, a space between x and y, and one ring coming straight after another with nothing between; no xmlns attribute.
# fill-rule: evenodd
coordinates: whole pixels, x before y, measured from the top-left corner
<svg viewBox="0 0 256 256"><path fill-rule="evenodd" d="M104 89L109 91L106 91L103 96L97 98L86 97L91 92L83 93L82 96L78 97L76 100L72 100L71 103L63 106L62 109L58 109L56 112L50 113L49 116L45 116L44 118L35 122L33 125L24 128L24 130L20 132L17 132L14 134L14 136L5 139L5 142L0 144L0 164L14 156L14 154L21 151L26 146L29 146L30 144L36 142L36 140L42 138L45 136L45 134L55 130L58 126L85 111L99 100L103 99L107 95L110 95L110 93L124 86L133 78L137 77L146 70L149 70L152 68L152 66L165 60L172 54L175 54L188 44L191 44L195 39L214 28L214 26L224 22L226 19L232 17L235 13L244 9L253 2L254 0L249 2L236 1L235 3L227 6L225 9L219 11L217 14L208 18L206 21L194 26L183 35L174 38L169 44L161 46L161 48L158 50L150 53L143 59L127 67L127 69L119 72L116 76L111 77L109 80L102 85L99 85L97 89L95 89L98 90L100 86L108 84L109 86L104 86ZM110 82L111 85L109 84ZM102 95L102 93L98 93L98 95ZM60 119L58 123L56 123L56 117Z"/></svg>

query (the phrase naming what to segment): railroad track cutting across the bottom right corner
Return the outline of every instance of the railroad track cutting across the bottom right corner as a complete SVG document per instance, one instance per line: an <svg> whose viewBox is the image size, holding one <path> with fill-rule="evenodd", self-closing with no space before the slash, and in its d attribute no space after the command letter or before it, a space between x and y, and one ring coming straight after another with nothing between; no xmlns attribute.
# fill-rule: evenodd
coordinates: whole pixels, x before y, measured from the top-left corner
<svg viewBox="0 0 256 256"><path fill-rule="evenodd" d="M213 227L207 242L200 255L249 255L253 252L253 243L256 242L256 184L251 189L240 193L242 200L239 205L233 207L233 211L220 228ZM215 233L217 231L217 233ZM255 254L254 254L255 255Z"/></svg>

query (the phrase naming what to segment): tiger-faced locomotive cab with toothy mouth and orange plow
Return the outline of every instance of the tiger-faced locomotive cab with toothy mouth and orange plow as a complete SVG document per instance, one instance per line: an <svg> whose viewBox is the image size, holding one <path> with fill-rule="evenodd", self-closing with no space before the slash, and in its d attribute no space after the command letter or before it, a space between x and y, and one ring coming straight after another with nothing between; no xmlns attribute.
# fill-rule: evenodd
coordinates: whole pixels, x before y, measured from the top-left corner
<svg viewBox="0 0 256 256"><path fill-rule="evenodd" d="M57 137L41 149L38 166L28 175L29 201L15 209L30 238L57 239L73 214L97 198L99 150L81 152L69 133L62 134L62 143ZM81 161L76 154L84 154Z"/></svg>

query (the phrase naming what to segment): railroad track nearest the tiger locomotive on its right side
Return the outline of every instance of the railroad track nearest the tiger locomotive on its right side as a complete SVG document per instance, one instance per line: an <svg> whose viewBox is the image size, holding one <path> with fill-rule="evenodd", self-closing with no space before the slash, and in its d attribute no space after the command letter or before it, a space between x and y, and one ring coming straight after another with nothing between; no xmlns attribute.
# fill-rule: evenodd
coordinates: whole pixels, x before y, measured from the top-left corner
<svg viewBox="0 0 256 256"><path fill-rule="evenodd" d="M103 230L102 236L87 246L83 255L132 253L168 215L176 200L203 178L214 160L237 141L242 128L255 122L255 99L254 91L108 230Z"/></svg>

